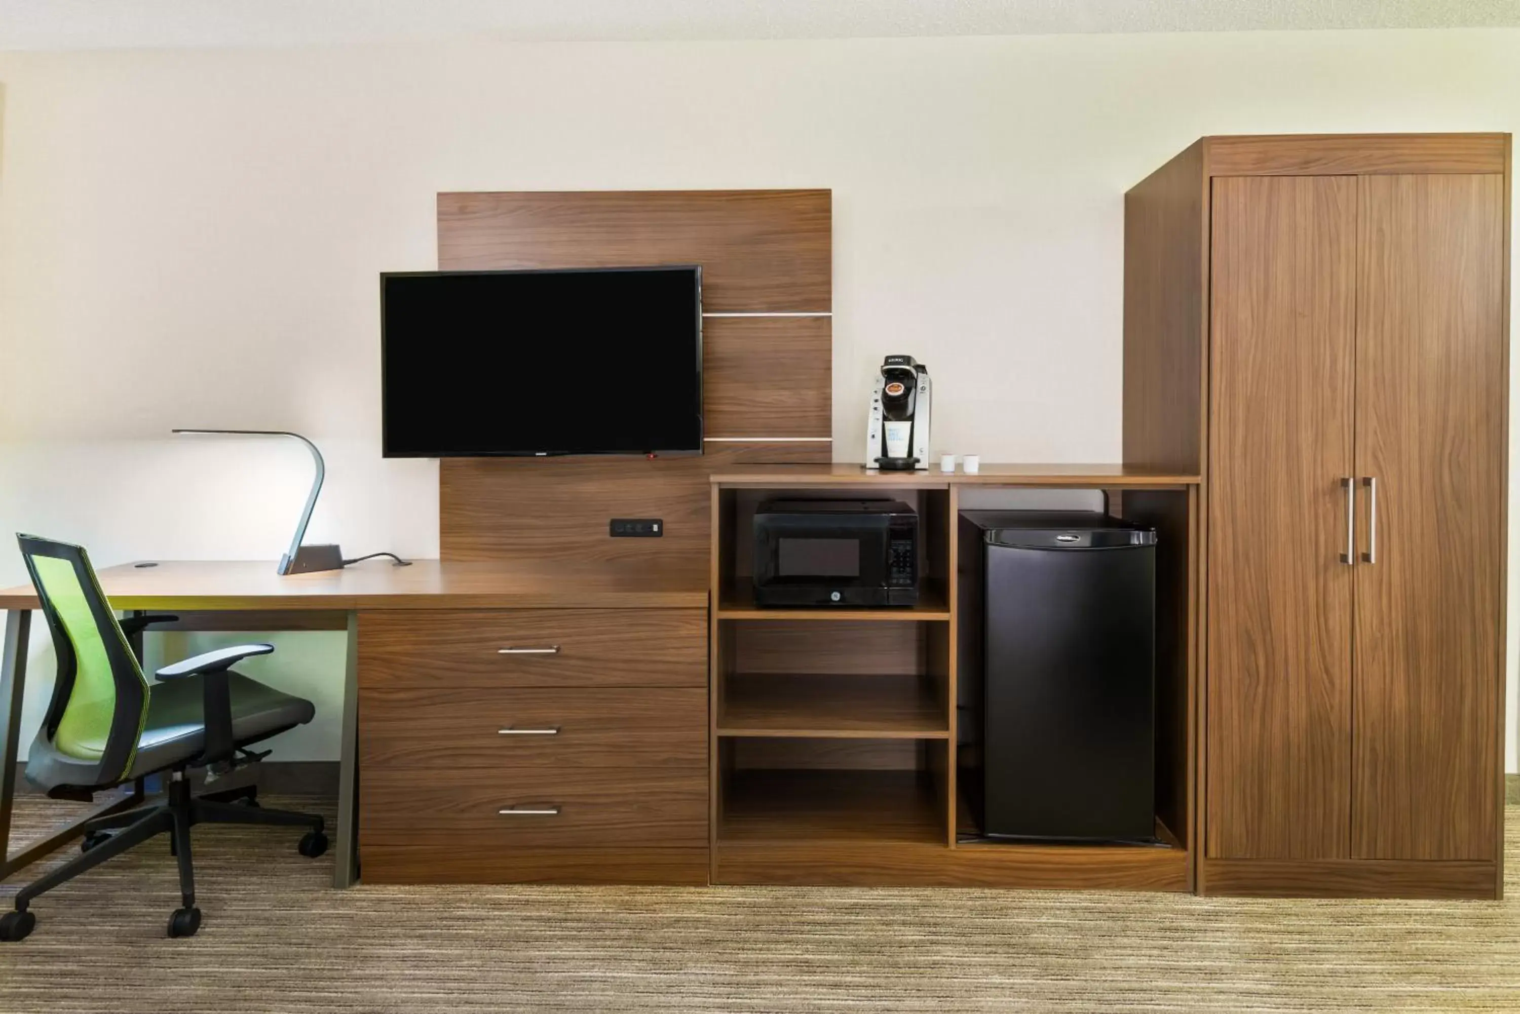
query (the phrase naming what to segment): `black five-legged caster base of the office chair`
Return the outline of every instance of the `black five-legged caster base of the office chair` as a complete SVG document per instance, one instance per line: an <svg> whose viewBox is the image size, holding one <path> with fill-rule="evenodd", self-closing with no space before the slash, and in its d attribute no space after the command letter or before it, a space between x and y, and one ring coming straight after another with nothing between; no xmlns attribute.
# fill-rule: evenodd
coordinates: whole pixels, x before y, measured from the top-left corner
<svg viewBox="0 0 1520 1014"><path fill-rule="evenodd" d="M274 827L306 827L299 853L316 857L327 851L322 818L295 810L268 810L257 804L252 786L192 795L184 769L176 769L161 803L109 813L84 824L84 851L58 870L21 888L15 895L15 912L0 918L0 941L23 940L36 924L27 908L40 894L67 883L82 873L134 848L158 835L169 835L170 851L179 863L179 895L184 906L169 920L170 936L190 936L201 927L201 909L195 905L195 865L190 859L190 829L196 824L266 824ZM245 804L246 803L246 804Z"/></svg>

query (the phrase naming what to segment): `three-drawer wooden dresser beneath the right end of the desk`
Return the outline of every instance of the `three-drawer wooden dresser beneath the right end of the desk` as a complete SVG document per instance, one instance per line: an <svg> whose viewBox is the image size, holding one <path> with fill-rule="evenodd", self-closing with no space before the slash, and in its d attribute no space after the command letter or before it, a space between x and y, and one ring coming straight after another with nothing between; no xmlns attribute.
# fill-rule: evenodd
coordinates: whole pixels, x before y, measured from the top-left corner
<svg viewBox="0 0 1520 1014"><path fill-rule="evenodd" d="M707 882L705 594L562 605L594 581L360 614L366 882Z"/></svg>

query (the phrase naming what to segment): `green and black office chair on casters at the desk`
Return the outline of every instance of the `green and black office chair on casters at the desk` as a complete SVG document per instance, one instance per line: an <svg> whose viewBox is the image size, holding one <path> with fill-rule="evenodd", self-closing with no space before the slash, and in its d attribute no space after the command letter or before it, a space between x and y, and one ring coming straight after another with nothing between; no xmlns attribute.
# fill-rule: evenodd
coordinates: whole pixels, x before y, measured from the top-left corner
<svg viewBox="0 0 1520 1014"><path fill-rule="evenodd" d="M263 809L252 787L193 797L185 780L190 768L220 775L252 763L268 751L255 754L246 749L249 745L312 721L310 701L231 670L237 661L268 655L274 646L210 651L164 666L155 673L160 681L149 684L128 634L178 617L117 622L84 547L33 535L17 538L58 655L53 698L26 762L27 780L53 798L90 800L100 789L170 774L163 801L88 821L82 853L15 895L15 911L0 917L0 941L24 940L32 932L36 917L29 906L40 894L161 833L170 836L179 860L184 900L169 918L170 936L192 936L201 927L190 862L193 825L307 827L299 853L315 859L327 851L321 816Z"/></svg>

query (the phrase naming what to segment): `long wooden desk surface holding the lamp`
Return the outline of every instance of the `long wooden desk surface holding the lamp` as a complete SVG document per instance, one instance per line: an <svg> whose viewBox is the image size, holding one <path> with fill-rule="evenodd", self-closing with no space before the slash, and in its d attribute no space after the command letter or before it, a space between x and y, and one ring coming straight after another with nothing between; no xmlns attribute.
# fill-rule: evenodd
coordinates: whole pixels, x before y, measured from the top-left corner
<svg viewBox="0 0 1520 1014"><path fill-rule="evenodd" d="M596 573L543 562L441 562L395 567L369 559L344 570L281 578L271 559L164 559L99 572L119 610L509 610L701 608L704 572L606 566ZM0 610L35 610L32 585L0 591Z"/></svg>

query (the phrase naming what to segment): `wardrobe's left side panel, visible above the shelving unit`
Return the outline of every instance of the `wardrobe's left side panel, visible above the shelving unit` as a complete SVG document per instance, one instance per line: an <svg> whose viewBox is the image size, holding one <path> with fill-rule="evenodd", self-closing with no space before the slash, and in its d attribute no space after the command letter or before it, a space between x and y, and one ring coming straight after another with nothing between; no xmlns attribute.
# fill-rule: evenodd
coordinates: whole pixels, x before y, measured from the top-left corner
<svg viewBox="0 0 1520 1014"><path fill-rule="evenodd" d="M1202 143L1125 195L1123 458L1198 473L1208 304Z"/></svg>

